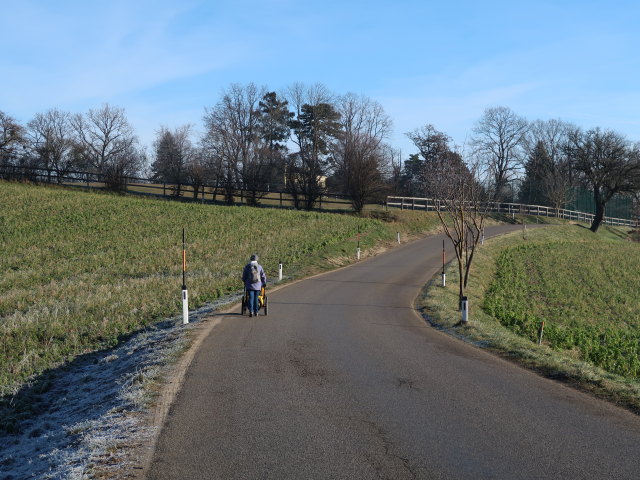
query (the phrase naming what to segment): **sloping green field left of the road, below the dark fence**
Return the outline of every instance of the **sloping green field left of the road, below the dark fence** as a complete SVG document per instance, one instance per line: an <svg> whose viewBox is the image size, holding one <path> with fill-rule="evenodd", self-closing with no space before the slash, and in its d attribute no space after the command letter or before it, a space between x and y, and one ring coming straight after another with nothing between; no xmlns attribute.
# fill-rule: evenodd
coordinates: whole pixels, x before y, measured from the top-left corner
<svg viewBox="0 0 640 480"><path fill-rule="evenodd" d="M0 395L76 355L181 311L182 228L190 307L241 292L252 252L288 279L433 229L419 212L366 216L221 207L0 182Z"/></svg>

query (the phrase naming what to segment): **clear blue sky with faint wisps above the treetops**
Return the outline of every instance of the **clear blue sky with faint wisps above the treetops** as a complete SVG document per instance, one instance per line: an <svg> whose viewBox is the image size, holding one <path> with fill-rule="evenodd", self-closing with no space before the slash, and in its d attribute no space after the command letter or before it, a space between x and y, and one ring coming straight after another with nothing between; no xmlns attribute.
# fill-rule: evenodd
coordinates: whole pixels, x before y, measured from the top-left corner
<svg viewBox="0 0 640 480"><path fill-rule="evenodd" d="M322 83L380 102L390 143L462 145L488 107L640 140L636 1L0 0L0 110L125 109L143 144L201 127L231 83Z"/></svg>

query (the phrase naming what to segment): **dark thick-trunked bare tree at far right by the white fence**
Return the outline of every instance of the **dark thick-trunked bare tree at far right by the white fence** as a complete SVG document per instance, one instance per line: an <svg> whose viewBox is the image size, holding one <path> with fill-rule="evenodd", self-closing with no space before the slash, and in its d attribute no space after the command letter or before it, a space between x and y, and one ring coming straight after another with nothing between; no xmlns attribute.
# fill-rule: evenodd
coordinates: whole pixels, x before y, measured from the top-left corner
<svg viewBox="0 0 640 480"><path fill-rule="evenodd" d="M640 151L624 136L599 128L586 132L576 129L569 140L568 153L574 167L593 192L596 213L590 228L596 232L614 195L640 189Z"/></svg>

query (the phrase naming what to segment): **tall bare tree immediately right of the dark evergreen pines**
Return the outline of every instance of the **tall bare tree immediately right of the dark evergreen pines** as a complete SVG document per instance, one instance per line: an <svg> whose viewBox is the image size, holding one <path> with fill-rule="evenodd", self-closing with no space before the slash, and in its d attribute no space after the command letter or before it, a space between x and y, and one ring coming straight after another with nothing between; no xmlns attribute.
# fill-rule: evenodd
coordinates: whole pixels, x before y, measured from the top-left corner
<svg viewBox="0 0 640 480"><path fill-rule="evenodd" d="M339 98L337 110L342 135L333 146L332 166L354 210L361 212L386 187L383 140L391 133L391 119L379 103L351 93Z"/></svg>

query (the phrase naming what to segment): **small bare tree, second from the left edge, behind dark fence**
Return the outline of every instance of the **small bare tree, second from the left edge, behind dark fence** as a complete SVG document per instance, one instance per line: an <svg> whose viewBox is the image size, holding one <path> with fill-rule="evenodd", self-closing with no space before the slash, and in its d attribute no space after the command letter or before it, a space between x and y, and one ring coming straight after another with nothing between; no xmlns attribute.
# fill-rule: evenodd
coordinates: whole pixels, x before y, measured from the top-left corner
<svg viewBox="0 0 640 480"><path fill-rule="evenodd" d="M61 182L74 166L71 115L54 108L37 113L27 127L36 164L47 170L47 181L55 173L56 181Z"/></svg>

